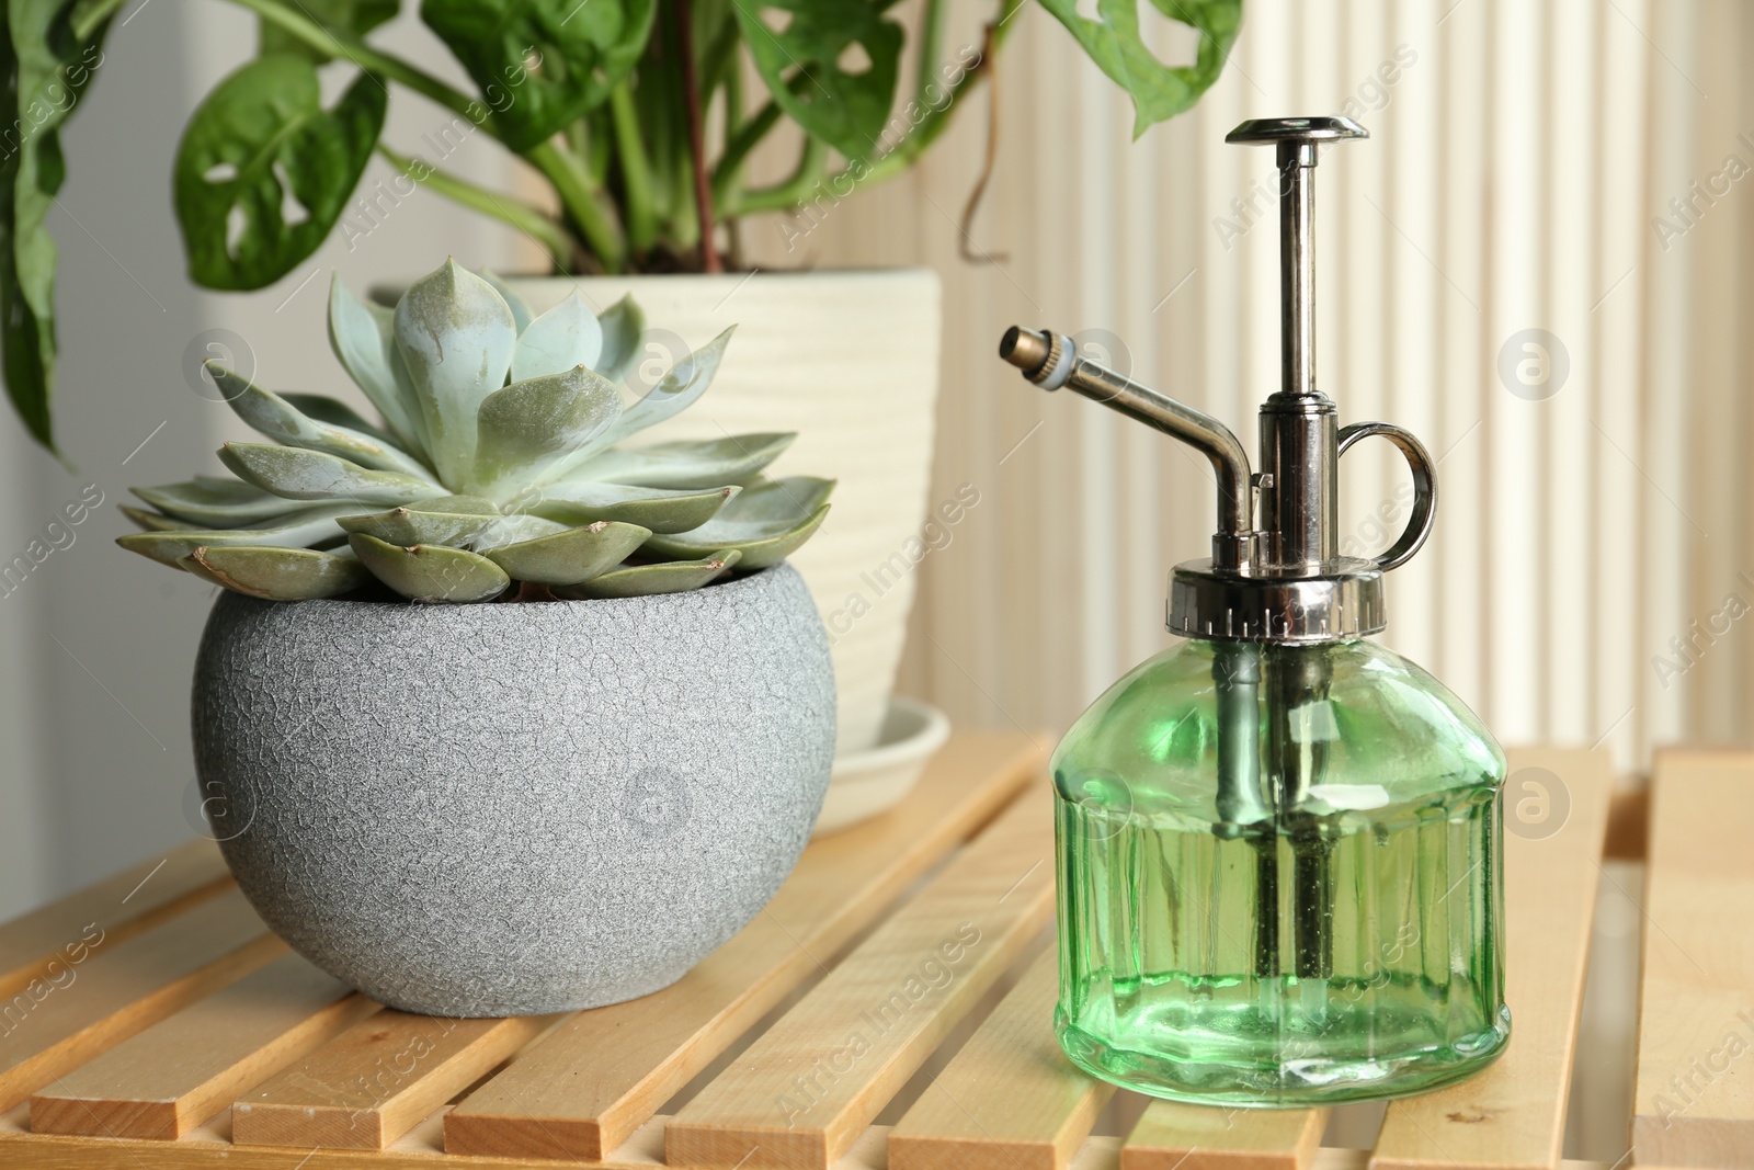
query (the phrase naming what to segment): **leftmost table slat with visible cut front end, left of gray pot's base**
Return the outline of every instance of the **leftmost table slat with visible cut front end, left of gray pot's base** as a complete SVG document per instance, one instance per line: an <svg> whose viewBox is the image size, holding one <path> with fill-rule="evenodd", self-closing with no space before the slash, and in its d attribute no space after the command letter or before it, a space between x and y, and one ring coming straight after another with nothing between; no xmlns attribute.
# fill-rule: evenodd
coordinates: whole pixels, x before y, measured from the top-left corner
<svg viewBox="0 0 1754 1170"><path fill-rule="evenodd" d="M179 1138L374 1010L347 984L288 954L61 1077L32 1098L30 1128Z"/></svg>

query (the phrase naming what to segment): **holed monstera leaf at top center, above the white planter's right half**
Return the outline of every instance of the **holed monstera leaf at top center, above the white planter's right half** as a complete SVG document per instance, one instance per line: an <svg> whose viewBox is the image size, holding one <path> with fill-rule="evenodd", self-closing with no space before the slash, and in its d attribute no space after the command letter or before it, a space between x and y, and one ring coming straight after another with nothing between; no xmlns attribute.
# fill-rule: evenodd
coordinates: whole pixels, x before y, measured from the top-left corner
<svg viewBox="0 0 1754 1170"><path fill-rule="evenodd" d="M786 12L775 30L768 12ZM884 19L882 5L868 0L738 0L737 19L761 81L774 102L809 133L849 160L873 160L884 123L895 105L902 60L902 26ZM842 65L847 51L863 46L870 65ZM793 89L791 75L803 70L810 84Z"/></svg>

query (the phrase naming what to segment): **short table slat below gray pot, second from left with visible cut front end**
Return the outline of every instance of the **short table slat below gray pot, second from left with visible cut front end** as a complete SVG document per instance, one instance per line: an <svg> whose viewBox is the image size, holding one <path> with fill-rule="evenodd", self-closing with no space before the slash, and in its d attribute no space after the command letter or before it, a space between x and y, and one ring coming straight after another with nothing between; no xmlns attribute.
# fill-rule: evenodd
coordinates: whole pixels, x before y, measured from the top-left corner
<svg viewBox="0 0 1754 1170"><path fill-rule="evenodd" d="M379 1012L235 1102L232 1140L382 1149L558 1019Z"/></svg>

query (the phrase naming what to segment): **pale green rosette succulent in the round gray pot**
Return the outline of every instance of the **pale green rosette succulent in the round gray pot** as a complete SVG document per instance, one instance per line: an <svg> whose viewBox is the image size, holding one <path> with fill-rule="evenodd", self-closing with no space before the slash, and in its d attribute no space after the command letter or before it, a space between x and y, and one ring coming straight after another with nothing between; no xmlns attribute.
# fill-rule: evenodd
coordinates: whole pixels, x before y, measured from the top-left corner
<svg viewBox="0 0 1754 1170"><path fill-rule="evenodd" d="M765 568L828 514L833 481L761 479L795 435L617 446L705 393L731 330L631 398L644 317L626 298L533 316L453 260L393 310L337 279L328 325L382 419L207 363L274 442L226 444L237 479L135 488L149 509L125 512L146 531L118 544L279 602L374 582L416 602L603 598Z"/></svg>

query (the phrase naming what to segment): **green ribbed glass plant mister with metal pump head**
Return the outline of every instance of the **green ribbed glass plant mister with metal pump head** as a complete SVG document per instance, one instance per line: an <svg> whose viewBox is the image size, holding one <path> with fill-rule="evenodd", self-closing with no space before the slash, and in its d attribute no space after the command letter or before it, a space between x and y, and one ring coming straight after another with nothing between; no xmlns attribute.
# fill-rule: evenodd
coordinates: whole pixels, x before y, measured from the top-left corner
<svg viewBox="0 0 1754 1170"><path fill-rule="evenodd" d="M1059 1045L1130 1089L1221 1105L1424 1091L1503 1051L1505 756L1461 700L1368 640L1382 577L1431 530L1433 463L1384 423L1338 426L1314 379L1312 181L1345 118L1249 121L1280 172L1284 386L1261 470L1212 419L1014 328L1000 354L1196 447L1217 477L1210 560L1177 565L1186 639L1086 710L1052 758ZM1407 530L1338 554L1337 463L1407 458Z"/></svg>

